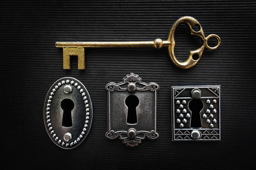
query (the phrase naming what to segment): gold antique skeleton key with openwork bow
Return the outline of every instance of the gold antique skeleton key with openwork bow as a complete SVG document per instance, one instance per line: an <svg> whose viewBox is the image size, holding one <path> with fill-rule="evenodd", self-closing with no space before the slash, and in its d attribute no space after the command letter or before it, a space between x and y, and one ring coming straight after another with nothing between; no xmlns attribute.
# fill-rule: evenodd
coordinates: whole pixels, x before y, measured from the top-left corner
<svg viewBox="0 0 256 170"><path fill-rule="evenodd" d="M181 23L185 23L189 27L191 35L198 36L202 40L202 46L197 50L190 51L189 57L185 62L178 61L174 54L175 30ZM194 26L198 27L199 30L194 31ZM215 47L209 47L207 44L208 39L211 37L217 39L217 45ZM155 50L160 50L162 47L168 48L170 60L172 60L175 66L180 69L189 69L200 60L205 47L212 51L220 46L220 37L215 34L205 37L200 23L193 17L185 16L173 24L166 41L155 39L154 41L135 42L56 42L55 46L57 48L63 48L63 69L67 70L70 70L70 56L78 57L78 70L85 69L84 48L154 48Z"/></svg>

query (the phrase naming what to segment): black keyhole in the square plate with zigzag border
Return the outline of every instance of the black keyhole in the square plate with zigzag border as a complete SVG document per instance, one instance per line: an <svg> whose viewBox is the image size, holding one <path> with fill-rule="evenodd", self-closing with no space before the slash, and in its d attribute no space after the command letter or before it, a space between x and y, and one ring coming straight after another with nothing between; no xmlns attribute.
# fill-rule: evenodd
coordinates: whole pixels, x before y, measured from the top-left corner
<svg viewBox="0 0 256 170"><path fill-rule="evenodd" d="M190 127L196 127L196 128L202 127L200 111L203 109L203 107L204 107L203 102L199 99L193 99L189 102L189 109L192 112Z"/></svg>

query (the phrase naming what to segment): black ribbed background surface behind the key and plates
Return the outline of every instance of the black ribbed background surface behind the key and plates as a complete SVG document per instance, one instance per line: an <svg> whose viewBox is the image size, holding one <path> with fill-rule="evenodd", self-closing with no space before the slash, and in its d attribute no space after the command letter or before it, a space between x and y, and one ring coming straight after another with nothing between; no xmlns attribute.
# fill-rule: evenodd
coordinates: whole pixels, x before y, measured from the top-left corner
<svg viewBox="0 0 256 170"><path fill-rule="evenodd" d="M6 1L0 5L1 167L47 169L250 169L255 165L255 1ZM62 69L56 41L167 39L182 16L196 18L221 45L205 49L199 63L176 68L167 49L86 49L86 70ZM200 46L181 25L175 53L182 61ZM210 44L214 44L211 42ZM107 91L129 73L159 84L156 140L126 147L109 140ZM66 150L49 138L44 99L59 78L81 81L93 101L93 124L78 147ZM171 86L221 85L221 141L173 142Z"/></svg>

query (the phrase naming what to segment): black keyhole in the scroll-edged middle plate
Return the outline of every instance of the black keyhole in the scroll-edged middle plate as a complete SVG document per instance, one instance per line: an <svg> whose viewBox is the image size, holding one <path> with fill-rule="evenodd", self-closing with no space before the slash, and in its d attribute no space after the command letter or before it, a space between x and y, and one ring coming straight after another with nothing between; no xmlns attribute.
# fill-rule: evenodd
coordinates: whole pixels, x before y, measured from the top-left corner
<svg viewBox="0 0 256 170"><path fill-rule="evenodd" d="M128 96L125 99L125 104L128 107L127 123L136 124L138 122L136 113L136 107L139 105L138 97L134 95Z"/></svg>

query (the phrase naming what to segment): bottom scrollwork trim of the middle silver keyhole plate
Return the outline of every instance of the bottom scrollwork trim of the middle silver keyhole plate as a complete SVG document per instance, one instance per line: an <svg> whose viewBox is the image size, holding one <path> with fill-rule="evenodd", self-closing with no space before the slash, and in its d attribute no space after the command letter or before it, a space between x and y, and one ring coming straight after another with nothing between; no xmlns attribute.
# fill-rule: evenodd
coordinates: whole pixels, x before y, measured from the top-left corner
<svg viewBox="0 0 256 170"><path fill-rule="evenodd" d="M136 136L133 138L129 138L127 136L127 131L114 131L111 130L109 133L106 133L106 137L109 139L115 139L119 137L121 140L123 140L123 143L126 144L126 146L137 146L139 143L141 143L141 140L145 139L147 137L148 139L156 139L159 137L159 134L155 132L154 130L149 131L138 131L136 132Z"/></svg>

